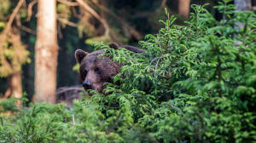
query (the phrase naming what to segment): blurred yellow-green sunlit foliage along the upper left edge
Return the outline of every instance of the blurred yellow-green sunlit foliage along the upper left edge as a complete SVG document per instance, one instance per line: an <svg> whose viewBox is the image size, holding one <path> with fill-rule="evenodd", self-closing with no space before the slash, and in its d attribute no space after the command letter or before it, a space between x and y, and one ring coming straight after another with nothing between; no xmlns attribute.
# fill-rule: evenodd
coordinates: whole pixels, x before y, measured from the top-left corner
<svg viewBox="0 0 256 143"><path fill-rule="evenodd" d="M25 10L21 12L15 18L14 23L10 23L8 26L10 12L15 8L12 6L15 2L0 0L0 77L8 77L9 75L20 72L21 65L29 63L29 52L26 50L26 46L23 45L17 37L20 37L20 30L17 28L20 26L20 18L24 18L26 15ZM15 34L18 34L16 37Z"/></svg>

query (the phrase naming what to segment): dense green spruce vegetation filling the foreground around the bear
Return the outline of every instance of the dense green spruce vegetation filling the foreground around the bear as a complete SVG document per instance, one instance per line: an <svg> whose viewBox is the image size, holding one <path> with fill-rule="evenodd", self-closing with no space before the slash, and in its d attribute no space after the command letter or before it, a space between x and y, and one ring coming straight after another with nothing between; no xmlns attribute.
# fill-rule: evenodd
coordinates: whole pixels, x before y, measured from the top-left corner
<svg viewBox="0 0 256 143"><path fill-rule="evenodd" d="M140 42L145 54L95 43L126 63L113 79L122 84L70 109L40 104L2 117L0 142L255 141L256 16L228 2L216 7L220 21L192 5L186 26L166 11L164 28Z"/></svg>

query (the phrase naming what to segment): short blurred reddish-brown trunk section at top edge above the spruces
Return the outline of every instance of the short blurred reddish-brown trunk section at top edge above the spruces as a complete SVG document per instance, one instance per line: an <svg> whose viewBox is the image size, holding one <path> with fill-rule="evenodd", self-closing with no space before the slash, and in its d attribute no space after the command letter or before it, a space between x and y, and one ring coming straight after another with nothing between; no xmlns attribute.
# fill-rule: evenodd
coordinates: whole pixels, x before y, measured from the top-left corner
<svg viewBox="0 0 256 143"><path fill-rule="evenodd" d="M178 14L183 18L189 18L190 0L178 0Z"/></svg>

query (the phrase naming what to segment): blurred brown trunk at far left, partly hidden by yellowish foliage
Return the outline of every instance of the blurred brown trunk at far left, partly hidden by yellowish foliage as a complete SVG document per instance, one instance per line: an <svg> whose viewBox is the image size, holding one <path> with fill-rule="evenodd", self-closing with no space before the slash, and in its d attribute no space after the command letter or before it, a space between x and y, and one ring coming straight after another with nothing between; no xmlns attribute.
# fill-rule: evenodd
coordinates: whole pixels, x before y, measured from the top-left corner
<svg viewBox="0 0 256 143"><path fill-rule="evenodd" d="M19 52L21 45L20 39L20 14L16 14L15 20L11 26L12 33L10 34L12 38L12 46L15 52ZM8 98L9 95L12 95L15 98L22 97L22 83L21 83L21 63L15 61L12 64L12 68L15 71L8 77L8 89L4 95L5 98ZM22 101L16 100L16 106L21 107Z"/></svg>

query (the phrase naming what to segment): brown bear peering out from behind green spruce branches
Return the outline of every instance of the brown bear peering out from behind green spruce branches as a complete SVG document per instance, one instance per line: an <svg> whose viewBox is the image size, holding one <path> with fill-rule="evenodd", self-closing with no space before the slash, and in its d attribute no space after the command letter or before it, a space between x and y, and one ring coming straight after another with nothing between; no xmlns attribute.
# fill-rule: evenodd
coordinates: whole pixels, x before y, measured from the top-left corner
<svg viewBox="0 0 256 143"><path fill-rule="evenodd" d="M112 49L119 49L117 43L110 43L108 46ZM121 46L121 48L134 53L145 52L145 50L137 49L133 46ZM79 72L85 91L92 89L102 93L103 89L106 89L107 86L103 83L113 83L112 77L121 72L122 64L117 61L111 61L108 56L102 58L102 56L98 56L99 54L104 54L104 51L96 50L92 53L87 53L82 49L78 49L75 52L75 58L80 65Z"/></svg>

